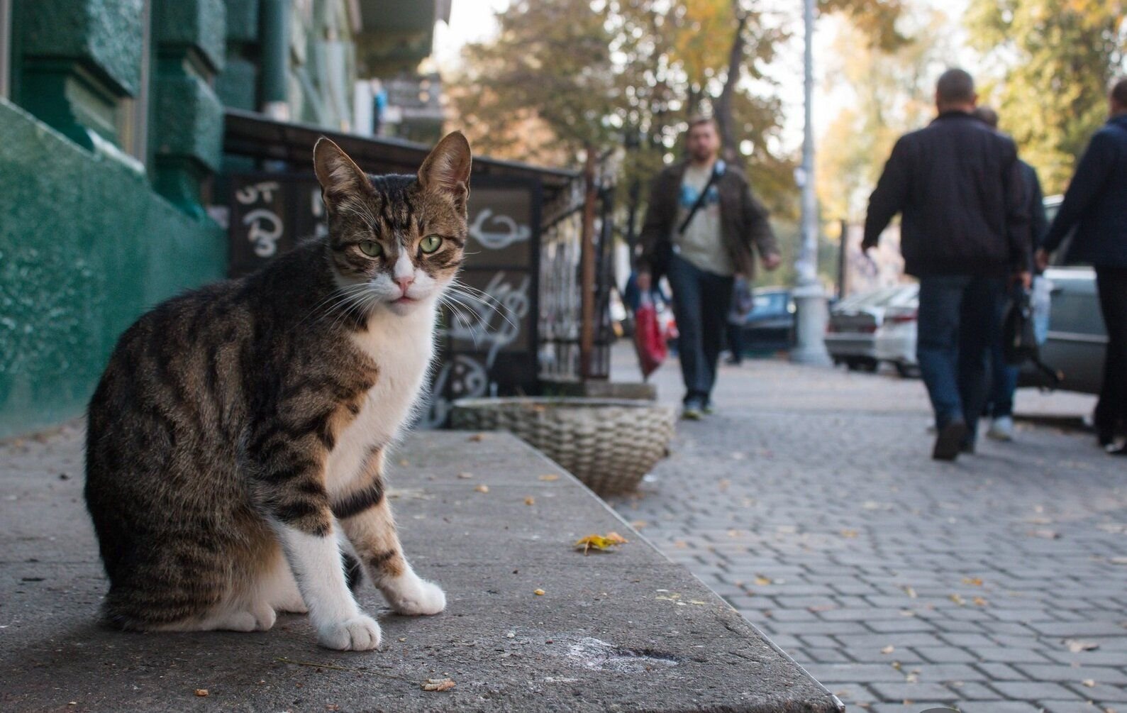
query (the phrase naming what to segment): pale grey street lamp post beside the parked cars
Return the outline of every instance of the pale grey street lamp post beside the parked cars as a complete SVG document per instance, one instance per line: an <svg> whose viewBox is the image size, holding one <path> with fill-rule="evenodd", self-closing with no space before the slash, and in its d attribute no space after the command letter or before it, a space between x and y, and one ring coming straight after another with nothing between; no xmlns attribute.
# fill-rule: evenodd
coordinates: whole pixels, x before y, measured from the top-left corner
<svg viewBox="0 0 1127 713"><path fill-rule="evenodd" d="M823 335L826 332L826 296L818 281L818 200L814 192L814 2L804 0L802 19L806 25L806 56L804 90L806 95L806 127L802 138L802 167L797 171L802 190L802 243L795 261L795 305L798 309L796 344L791 361L806 364L828 364L829 354Z"/></svg>

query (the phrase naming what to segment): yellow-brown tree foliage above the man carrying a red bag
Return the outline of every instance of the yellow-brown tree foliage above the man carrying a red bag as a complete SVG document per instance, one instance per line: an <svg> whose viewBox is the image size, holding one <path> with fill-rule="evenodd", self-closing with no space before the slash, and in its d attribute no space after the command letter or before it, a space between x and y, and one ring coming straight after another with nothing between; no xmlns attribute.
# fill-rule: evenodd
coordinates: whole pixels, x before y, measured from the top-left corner
<svg viewBox="0 0 1127 713"><path fill-rule="evenodd" d="M791 200L793 165L774 148L781 105L764 74L784 38L778 21L733 0L516 0L498 21L447 82L486 152L558 164L587 147L623 149L629 184L675 156L685 121L722 95L729 158L773 203Z"/></svg>

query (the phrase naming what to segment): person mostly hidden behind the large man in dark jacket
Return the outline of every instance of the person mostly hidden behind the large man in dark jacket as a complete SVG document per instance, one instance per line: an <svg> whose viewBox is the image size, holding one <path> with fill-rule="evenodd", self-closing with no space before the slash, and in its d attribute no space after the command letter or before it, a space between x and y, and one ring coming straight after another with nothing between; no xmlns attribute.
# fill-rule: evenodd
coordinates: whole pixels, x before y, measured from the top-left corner
<svg viewBox="0 0 1127 713"><path fill-rule="evenodd" d="M991 129L997 130L997 112L988 106L975 107L975 116ZM1045 215L1045 196L1041 193L1041 182L1037 177L1037 169L1018 159L1021 169L1022 196L1026 205L1026 213L1029 215L1029 237L1032 247L1036 248L1045 239L1049 230L1049 221ZM1044 280L1036 278L1035 280ZM1005 353L1002 349L1002 334L994 342L991 356L991 389L990 407L987 408L991 424L986 435L999 441L1013 440L1013 395L1018 390L1018 375L1021 368L1006 363Z"/></svg>

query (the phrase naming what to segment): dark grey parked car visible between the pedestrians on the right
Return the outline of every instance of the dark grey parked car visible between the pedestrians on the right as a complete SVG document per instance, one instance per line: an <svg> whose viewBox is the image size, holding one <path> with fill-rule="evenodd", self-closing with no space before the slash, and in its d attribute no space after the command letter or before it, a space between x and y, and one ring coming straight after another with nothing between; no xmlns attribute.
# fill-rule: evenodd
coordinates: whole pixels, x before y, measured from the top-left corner
<svg viewBox="0 0 1127 713"><path fill-rule="evenodd" d="M1061 196L1045 199L1045 212L1051 221L1061 208ZM1054 264L1045 271L1053 282L1049 307L1048 337L1041 345L1041 361L1064 373L1059 388L1070 391L1099 394L1103 379L1103 358L1108 350L1108 332L1095 293L1095 271L1091 265L1068 264L1068 243L1054 255ZM1032 368L1021 372L1019 384L1044 382Z"/></svg>

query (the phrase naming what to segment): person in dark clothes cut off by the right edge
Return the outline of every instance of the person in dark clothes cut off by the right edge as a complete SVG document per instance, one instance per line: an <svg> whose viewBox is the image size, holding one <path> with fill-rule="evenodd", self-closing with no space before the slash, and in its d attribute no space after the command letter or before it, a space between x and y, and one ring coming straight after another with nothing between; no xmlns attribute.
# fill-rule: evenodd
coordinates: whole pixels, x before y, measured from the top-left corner
<svg viewBox="0 0 1127 713"><path fill-rule="evenodd" d="M1045 243L1037 252L1039 267L1075 228L1070 262L1095 267L1100 311L1108 331L1103 384L1095 406L1095 434L1108 452L1127 455L1115 444L1127 425L1127 78L1108 97L1110 117L1095 132L1064 194Z"/></svg>

